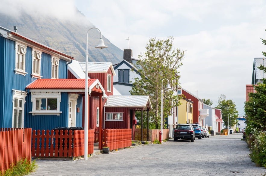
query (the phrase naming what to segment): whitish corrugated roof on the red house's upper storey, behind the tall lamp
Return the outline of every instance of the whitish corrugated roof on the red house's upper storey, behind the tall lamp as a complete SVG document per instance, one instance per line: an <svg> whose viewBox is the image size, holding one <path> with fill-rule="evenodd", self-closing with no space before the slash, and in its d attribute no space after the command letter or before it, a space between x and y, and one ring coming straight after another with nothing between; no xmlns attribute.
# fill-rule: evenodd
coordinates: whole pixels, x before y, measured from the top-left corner
<svg viewBox="0 0 266 176"><path fill-rule="evenodd" d="M80 62L82 70L85 72L86 63ZM112 62L88 62L88 72L89 73L106 73L111 67L111 70L114 73L114 68Z"/></svg>

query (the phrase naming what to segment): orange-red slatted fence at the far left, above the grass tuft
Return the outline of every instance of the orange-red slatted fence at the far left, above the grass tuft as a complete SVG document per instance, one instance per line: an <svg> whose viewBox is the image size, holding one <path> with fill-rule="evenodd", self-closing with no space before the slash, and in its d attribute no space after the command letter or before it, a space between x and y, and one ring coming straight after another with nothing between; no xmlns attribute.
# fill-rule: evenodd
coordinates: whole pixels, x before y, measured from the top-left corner
<svg viewBox="0 0 266 176"><path fill-rule="evenodd" d="M31 160L31 128L0 129L0 175L20 159Z"/></svg>

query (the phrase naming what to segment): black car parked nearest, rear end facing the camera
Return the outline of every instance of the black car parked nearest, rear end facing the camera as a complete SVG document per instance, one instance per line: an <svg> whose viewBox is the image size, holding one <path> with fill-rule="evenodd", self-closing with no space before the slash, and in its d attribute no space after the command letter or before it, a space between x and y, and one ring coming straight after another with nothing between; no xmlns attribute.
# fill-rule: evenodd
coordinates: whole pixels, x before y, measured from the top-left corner
<svg viewBox="0 0 266 176"><path fill-rule="evenodd" d="M174 141L178 139L188 139L191 142L195 140L195 131L190 124L178 124L174 129Z"/></svg>

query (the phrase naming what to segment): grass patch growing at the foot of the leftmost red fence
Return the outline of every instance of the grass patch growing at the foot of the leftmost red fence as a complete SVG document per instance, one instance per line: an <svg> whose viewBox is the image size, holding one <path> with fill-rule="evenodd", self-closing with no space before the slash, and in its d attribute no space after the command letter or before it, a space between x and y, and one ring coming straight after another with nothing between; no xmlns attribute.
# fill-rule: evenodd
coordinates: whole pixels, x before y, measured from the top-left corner
<svg viewBox="0 0 266 176"><path fill-rule="evenodd" d="M12 166L12 165L11 165ZM27 159L21 159L13 165L13 167L9 168L5 171L5 173L1 173L2 176L20 176L27 175L37 168L36 160L29 162Z"/></svg>

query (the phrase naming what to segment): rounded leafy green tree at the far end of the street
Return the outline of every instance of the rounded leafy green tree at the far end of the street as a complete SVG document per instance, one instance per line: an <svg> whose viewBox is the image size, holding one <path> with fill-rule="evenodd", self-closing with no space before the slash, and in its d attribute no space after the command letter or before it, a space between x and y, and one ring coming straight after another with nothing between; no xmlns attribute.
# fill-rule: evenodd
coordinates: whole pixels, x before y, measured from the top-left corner
<svg viewBox="0 0 266 176"><path fill-rule="evenodd" d="M222 110L223 120L226 126L227 124L230 126L231 122L232 126L237 123L238 111L236 110L236 105L233 100L226 99L226 96L222 94L218 98L218 105L215 108ZM229 123L227 123L228 117L231 117L229 118Z"/></svg>

